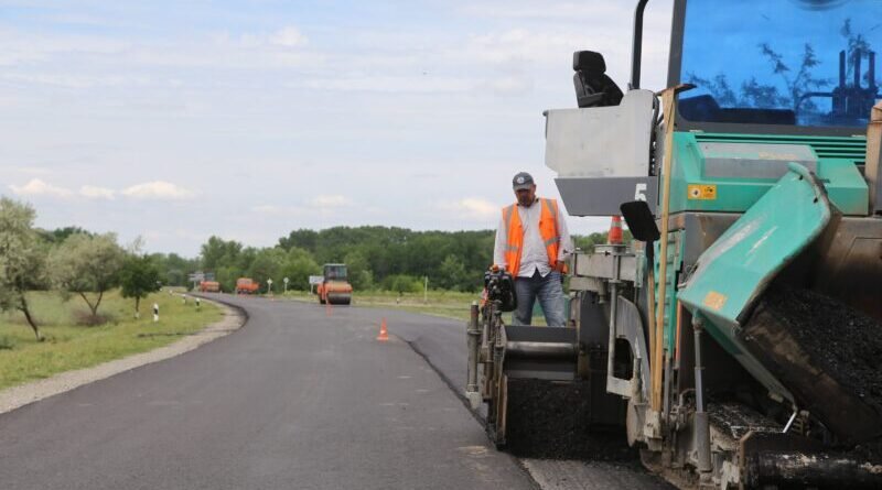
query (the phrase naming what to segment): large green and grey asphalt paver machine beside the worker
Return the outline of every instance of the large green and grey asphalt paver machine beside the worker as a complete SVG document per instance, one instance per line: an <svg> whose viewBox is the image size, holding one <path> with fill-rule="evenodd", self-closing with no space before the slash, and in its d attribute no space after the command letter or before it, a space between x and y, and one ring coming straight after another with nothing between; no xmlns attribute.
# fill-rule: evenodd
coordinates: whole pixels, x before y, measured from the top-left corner
<svg viewBox="0 0 882 490"><path fill-rule="evenodd" d="M545 113L568 213L644 241L577 253L572 348L529 347L679 487L882 488L882 1L675 0L657 94L646 6L628 89L577 52L579 107Z"/></svg>

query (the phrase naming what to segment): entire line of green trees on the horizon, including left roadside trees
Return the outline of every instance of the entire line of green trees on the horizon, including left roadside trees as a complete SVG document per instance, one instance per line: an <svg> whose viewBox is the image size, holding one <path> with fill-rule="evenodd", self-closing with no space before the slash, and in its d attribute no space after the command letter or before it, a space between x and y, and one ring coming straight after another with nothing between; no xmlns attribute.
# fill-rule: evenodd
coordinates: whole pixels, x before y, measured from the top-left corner
<svg viewBox="0 0 882 490"><path fill-rule="evenodd" d="M298 229L273 247L257 248L211 237L200 255L146 254L140 240L127 247L114 233L93 233L78 227L43 230L34 227L36 213L25 204L0 198L0 311L19 311L40 338L28 291L57 291L88 306L93 318L104 294L120 287L140 300L162 285L189 286L189 274L213 272L222 290L235 291L238 277L251 277L266 288L268 279L289 288L309 290L309 276L324 263L345 263L356 291L420 292L426 281L433 290L476 292L493 261L495 230L415 231L363 226L323 230ZM625 232L626 239L630 237ZM590 251L606 241L605 232L573 236L577 248Z"/></svg>

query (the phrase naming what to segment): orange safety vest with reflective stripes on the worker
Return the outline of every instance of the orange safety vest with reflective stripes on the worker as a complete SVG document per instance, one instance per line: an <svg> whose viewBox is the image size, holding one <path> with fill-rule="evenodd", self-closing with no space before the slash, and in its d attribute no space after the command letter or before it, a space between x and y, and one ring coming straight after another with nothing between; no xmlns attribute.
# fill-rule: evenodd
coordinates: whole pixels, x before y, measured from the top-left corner
<svg viewBox="0 0 882 490"><path fill-rule="evenodd" d="M558 202L540 198L539 205L542 207L539 215L539 236L542 238L546 252L548 252L548 263L553 268L558 261L558 248L560 247ZM520 224L517 204L503 208L503 224L508 237L505 243L505 263L508 272L517 277L517 273L520 271L520 252L524 249L524 226Z"/></svg>

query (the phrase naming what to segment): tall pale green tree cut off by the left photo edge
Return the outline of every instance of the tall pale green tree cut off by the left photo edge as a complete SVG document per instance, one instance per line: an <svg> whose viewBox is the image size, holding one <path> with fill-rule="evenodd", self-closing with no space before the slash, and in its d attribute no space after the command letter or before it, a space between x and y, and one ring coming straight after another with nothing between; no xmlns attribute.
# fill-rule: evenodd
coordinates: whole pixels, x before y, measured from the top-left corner
<svg viewBox="0 0 882 490"><path fill-rule="evenodd" d="M25 296L45 271L45 252L33 229L35 216L32 207L0 198L0 309L21 312L42 340Z"/></svg>

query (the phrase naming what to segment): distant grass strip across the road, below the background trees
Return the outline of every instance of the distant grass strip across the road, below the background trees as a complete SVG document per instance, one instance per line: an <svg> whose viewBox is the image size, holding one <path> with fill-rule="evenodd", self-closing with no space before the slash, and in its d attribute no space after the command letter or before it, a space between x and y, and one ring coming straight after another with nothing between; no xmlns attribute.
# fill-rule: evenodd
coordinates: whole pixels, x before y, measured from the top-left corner
<svg viewBox="0 0 882 490"><path fill-rule="evenodd" d="M286 298L314 302L316 305L319 303L314 294L304 291L289 291ZM478 298L478 293L458 291L429 291L428 296L423 296L423 293L404 293L399 296L392 291L356 291L353 294L352 304L374 308L402 309L467 322L472 302ZM510 324L512 314L504 314L503 319L506 324ZM546 325L545 317L534 316L533 325Z"/></svg>

